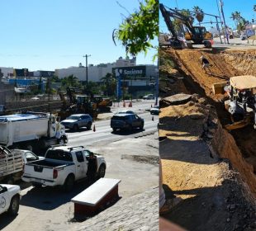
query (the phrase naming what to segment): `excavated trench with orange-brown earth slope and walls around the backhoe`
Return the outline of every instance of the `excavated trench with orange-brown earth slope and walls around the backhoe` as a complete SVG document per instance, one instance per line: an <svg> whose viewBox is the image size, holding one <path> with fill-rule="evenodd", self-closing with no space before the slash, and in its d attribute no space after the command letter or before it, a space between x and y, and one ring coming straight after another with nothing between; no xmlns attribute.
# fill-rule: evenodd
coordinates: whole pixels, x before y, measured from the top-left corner
<svg viewBox="0 0 256 231"><path fill-rule="evenodd" d="M216 107L219 117L218 129L212 139L212 148L222 158L229 158L232 166L240 173L244 188L251 200L256 198L256 131L253 126L227 131L222 125L230 123L230 115L223 105L224 95L214 95L212 84L227 82L230 77L256 73L256 50L161 50L160 57L168 56L176 71L161 70L169 79L179 81L183 92L197 93ZM211 73L204 73L200 56L206 56L211 63ZM167 74L169 73L169 74ZM183 77L183 78L182 78ZM183 80L180 82L180 80ZM169 85L170 86L170 85ZM168 90L168 87L164 87ZM172 87L169 87L172 88ZM177 89L177 87L174 87ZM161 90L161 89L160 89ZM164 91L164 97L168 96ZM174 91L175 93L175 91Z"/></svg>

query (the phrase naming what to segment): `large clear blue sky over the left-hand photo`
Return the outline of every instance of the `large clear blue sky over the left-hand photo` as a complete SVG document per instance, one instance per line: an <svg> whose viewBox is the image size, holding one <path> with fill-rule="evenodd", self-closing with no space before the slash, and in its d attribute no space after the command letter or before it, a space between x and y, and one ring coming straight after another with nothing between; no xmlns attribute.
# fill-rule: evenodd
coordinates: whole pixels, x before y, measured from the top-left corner
<svg viewBox="0 0 256 231"><path fill-rule="evenodd" d="M55 70L115 62L126 57L119 41L112 41L138 0L2 0L0 67ZM127 12L127 11L128 12ZM137 56L137 64L153 64L154 51Z"/></svg>

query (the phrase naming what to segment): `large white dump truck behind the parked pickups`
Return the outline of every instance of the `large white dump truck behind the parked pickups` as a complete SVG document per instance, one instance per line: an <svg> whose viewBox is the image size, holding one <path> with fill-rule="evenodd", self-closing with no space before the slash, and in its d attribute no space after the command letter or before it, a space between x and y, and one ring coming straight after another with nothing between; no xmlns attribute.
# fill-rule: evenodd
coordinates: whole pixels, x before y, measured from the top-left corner
<svg viewBox="0 0 256 231"><path fill-rule="evenodd" d="M0 116L0 144L9 148L35 150L65 144L68 137L64 125L55 115L41 112Z"/></svg>

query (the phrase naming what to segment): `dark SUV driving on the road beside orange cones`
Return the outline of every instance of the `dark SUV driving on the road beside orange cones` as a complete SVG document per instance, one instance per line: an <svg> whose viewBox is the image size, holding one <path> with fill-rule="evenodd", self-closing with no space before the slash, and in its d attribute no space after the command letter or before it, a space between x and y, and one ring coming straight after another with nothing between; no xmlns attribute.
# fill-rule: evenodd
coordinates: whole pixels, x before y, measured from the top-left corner
<svg viewBox="0 0 256 231"><path fill-rule="evenodd" d="M143 130L144 119L140 118L135 114L117 114L111 118L111 128L113 131L116 130L133 130L140 128Z"/></svg>

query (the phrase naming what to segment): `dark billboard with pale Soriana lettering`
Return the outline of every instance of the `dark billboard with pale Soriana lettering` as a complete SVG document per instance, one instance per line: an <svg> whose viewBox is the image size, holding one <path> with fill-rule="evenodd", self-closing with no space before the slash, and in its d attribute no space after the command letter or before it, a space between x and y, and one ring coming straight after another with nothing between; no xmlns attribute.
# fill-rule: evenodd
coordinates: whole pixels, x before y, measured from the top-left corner
<svg viewBox="0 0 256 231"><path fill-rule="evenodd" d="M112 68L116 78L142 78L146 75L145 66Z"/></svg>

